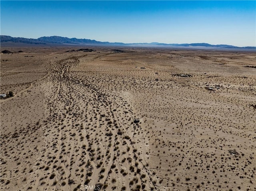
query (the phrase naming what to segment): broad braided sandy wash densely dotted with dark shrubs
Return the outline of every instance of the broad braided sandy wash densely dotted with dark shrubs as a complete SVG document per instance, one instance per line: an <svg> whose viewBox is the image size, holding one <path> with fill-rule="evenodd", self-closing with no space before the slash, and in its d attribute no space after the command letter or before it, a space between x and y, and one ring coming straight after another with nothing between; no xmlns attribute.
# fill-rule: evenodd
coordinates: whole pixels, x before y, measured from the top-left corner
<svg viewBox="0 0 256 191"><path fill-rule="evenodd" d="M140 124L133 122L130 105L121 94L94 87L86 77L76 77L72 71L79 58L46 65L53 71L41 84L49 93L46 146L35 161L40 165L31 180L36 175L38 189L50 189L52 184L64 190L81 184L113 185L109 190L115 186L130 190L138 185L149 189L153 184L146 169L147 139ZM42 178L49 184L40 185Z"/></svg>

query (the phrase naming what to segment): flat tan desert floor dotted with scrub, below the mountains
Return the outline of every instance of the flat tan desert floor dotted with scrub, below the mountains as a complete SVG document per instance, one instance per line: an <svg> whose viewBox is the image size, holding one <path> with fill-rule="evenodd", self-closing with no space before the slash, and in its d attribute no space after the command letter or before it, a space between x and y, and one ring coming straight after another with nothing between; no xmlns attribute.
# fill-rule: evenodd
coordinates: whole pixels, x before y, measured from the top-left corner
<svg viewBox="0 0 256 191"><path fill-rule="evenodd" d="M256 190L255 52L80 48L1 53L1 190Z"/></svg>

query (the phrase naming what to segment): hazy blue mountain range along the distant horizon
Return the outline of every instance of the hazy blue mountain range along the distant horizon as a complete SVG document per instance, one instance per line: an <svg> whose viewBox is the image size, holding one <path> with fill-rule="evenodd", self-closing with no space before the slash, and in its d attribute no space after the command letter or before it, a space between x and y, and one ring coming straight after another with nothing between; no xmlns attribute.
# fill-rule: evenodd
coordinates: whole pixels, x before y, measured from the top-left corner
<svg viewBox="0 0 256 191"><path fill-rule="evenodd" d="M77 39L60 36L40 37L38 39L22 38L22 37L11 37L6 35L0 35L1 43L25 43L25 44L73 44L73 45L112 45L112 46L169 46L169 47L216 47L216 48L228 48L228 49L256 49L256 47L237 47L232 45L211 45L208 43L184 43L184 44L166 44L166 43L120 43L120 42L101 42L90 39Z"/></svg>

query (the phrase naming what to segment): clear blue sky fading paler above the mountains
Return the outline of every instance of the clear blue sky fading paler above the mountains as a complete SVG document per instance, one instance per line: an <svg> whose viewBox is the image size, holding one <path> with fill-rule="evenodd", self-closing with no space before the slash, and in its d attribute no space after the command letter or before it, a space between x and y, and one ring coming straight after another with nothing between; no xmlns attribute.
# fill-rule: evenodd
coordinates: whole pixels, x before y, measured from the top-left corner
<svg viewBox="0 0 256 191"><path fill-rule="evenodd" d="M256 1L0 1L1 35L256 46Z"/></svg>

